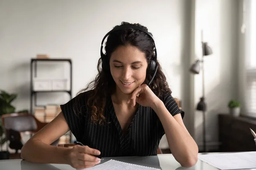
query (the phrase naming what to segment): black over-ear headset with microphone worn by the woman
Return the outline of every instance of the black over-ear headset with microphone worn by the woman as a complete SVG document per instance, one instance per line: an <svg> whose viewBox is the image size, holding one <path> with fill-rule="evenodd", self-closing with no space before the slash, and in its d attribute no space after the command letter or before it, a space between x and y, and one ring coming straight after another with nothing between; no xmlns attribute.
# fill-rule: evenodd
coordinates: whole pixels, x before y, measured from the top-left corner
<svg viewBox="0 0 256 170"><path fill-rule="evenodd" d="M103 38L102 40L102 44L101 44L101 48L100 48L100 56L101 56L101 59L102 59L102 70L103 71L109 71L110 70L110 67L109 67L109 61L106 57L105 54L103 54L103 43L104 43L104 40L106 37L108 37L109 34L111 34L112 32L114 31L119 31L119 30L125 30L127 28L133 28L135 30L139 30L139 31L143 31L145 32L146 34L148 34L149 37L151 37L151 39L153 40L153 44L154 44L154 53L155 53L155 56L153 59L151 59L151 62L149 63L148 65L148 69L149 69L149 73L151 74L152 78L151 80L148 82L148 85L151 84L151 82L153 81L156 73L157 73L157 69L158 69L158 65L157 65L157 48L155 46L155 43L154 43L154 38L152 37L152 35L150 33L148 33L147 31L144 31L142 28L138 27L138 26L119 26L119 27L116 27L116 28L113 28L111 31L109 31Z"/></svg>

